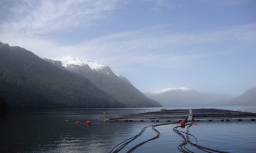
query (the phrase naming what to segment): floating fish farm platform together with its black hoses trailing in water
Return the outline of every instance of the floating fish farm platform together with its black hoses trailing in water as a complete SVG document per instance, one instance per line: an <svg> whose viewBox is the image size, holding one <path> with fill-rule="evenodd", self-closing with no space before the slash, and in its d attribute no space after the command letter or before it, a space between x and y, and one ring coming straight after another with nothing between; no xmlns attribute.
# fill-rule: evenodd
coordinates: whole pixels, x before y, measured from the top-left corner
<svg viewBox="0 0 256 153"><path fill-rule="evenodd" d="M241 111L233 111L233 110L222 110L222 109L175 109L175 110L167 110L162 109L160 111L155 112L144 112L144 113L137 113L129 115L119 115L115 117L109 117L109 119L105 119L104 121L126 121L126 122L133 122L133 121L149 121L149 122L164 122L164 123L155 123L152 125L147 125L143 127L143 129L135 136L124 140L123 142L117 144L110 153L117 153L121 151L126 145L140 137L144 131L148 127L152 127L152 130L156 132L156 136L152 137L148 140L138 143L137 145L130 148L126 153L131 153L141 145L153 141L160 137L160 132L155 129L157 126L161 125L169 125L169 124L179 124L173 127L173 131L183 138L183 141L180 145L177 146L180 152L191 153L194 150L191 149L198 149L204 152L219 152L219 153L228 153L226 151L217 150L214 148L207 148L205 146L201 146L197 143L197 138L189 133L189 128L192 125L197 125L194 122L200 121L220 121L220 122L228 122L228 121L255 121L256 113L250 112L241 112ZM184 129L186 128L186 132L178 130L178 128ZM193 137L194 140L191 141L190 137ZM196 150L196 151L198 151Z"/></svg>

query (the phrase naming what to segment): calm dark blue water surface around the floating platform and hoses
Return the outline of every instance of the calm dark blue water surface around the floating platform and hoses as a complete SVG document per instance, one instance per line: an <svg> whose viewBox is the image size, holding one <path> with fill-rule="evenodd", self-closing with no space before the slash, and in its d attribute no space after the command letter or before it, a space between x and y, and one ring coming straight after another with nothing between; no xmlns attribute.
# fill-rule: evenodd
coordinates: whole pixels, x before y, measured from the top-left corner
<svg viewBox="0 0 256 153"><path fill-rule="evenodd" d="M256 111L256 106L222 108ZM13 109L0 116L0 152L110 152L118 143L137 135L144 126L154 123L103 122L99 118L103 116L103 112L115 115L156 110L160 108ZM91 121L90 126L86 125L87 120ZM80 124L76 125L76 121ZM142 145L134 152L180 152L177 146L183 139L173 132L173 127L177 125L156 127L161 133L160 138ZM190 127L190 134L197 138L199 145L213 149L228 152L256 150L256 122L197 122L197 125ZM120 152L126 152L155 136L156 133L148 128L141 137ZM192 137L190 140L194 141ZM193 146L187 147L195 152L202 152Z"/></svg>

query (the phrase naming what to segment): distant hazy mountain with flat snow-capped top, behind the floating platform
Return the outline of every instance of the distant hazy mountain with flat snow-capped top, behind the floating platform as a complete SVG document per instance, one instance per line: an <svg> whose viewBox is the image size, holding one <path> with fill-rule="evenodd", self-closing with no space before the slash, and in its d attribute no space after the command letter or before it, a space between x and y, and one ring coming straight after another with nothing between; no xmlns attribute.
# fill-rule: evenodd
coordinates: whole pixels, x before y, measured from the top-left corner
<svg viewBox="0 0 256 153"><path fill-rule="evenodd" d="M167 88L161 91L144 93L147 97L157 100L163 107L207 106L218 100L231 99L231 95L199 93L191 88Z"/></svg>

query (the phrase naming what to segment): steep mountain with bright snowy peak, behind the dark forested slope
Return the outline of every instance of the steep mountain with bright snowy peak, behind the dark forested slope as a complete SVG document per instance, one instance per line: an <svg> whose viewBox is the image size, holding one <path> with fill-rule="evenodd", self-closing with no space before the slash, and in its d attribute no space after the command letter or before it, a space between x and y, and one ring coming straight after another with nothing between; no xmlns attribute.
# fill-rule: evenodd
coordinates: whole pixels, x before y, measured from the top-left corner
<svg viewBox="0 0 256 153"><path fill-rule="evenodd" d="M49 61L49 59L44 58ZM54 61L50 61L54 64ZM66 57L62 66L70 72L83 75L99 89L109 93L113 98L127 107L161 107L161 105L136 89L129 80L114 74L109 66L82 58Z"/></svg>

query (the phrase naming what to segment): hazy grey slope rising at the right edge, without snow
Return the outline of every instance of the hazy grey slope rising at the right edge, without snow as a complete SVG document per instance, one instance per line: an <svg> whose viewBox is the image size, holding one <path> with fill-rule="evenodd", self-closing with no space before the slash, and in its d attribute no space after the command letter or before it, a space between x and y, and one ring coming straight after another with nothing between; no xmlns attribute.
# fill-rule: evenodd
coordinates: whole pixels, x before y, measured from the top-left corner
<svg viewBox="0 0 256 153"><path fill-rule="evenodd" d="M230 100L221 101L219 105L256 105L256 88L245 91L242 95Z"/></svg>

